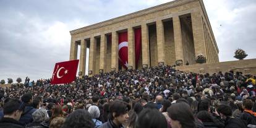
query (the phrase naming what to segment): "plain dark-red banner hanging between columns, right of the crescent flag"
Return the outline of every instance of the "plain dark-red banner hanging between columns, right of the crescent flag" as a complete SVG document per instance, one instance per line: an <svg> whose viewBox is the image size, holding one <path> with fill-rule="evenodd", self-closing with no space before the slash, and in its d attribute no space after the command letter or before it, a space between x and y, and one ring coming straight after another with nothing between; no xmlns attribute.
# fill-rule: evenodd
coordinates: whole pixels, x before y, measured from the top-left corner
<svg viewBox="0 0 256 128"><path fill-rule="evenodd" d="M142 29L134 29L134 39L135 39L135 64L138 67L138 62L140 58L140 53L142 51Z"/></svg>

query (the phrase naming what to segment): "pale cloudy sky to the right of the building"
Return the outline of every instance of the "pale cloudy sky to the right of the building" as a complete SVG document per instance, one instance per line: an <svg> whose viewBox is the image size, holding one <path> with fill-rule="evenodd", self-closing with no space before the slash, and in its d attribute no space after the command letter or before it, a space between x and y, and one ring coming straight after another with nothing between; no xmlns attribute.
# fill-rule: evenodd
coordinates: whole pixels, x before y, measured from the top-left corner
<svg viewBox="0 0 256 128"><path fill-rule="evenodd" d="M256 58L252 46L256 40L255 1L207 0L205 8L215 34L220 61L233 61L234 51L244 49L249 56Z"/></svg>

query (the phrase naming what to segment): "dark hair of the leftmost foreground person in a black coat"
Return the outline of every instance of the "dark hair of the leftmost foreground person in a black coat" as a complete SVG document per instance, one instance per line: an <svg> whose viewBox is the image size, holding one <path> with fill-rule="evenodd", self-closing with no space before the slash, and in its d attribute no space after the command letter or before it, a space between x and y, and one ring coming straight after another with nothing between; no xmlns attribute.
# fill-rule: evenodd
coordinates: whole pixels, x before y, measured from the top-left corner
<svg viewBox="0 0 256 128"><path fill-rule="evenodd" d="M4 104L4 115L12 114L14 111L24 111L25 105L20 100L12 99Z"/></svg>

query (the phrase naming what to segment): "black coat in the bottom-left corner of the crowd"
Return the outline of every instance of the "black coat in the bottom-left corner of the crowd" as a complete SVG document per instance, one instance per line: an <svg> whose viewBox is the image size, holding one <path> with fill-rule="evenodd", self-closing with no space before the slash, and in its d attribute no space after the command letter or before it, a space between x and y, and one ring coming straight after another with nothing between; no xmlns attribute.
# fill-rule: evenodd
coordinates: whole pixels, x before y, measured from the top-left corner
<svg viewBox="0 0 256 128"><path fill-rule="evenodd" d="M24 128L19 121L9 117L2 117L0 121L0 127L8 127L8 128Z"/></svg>

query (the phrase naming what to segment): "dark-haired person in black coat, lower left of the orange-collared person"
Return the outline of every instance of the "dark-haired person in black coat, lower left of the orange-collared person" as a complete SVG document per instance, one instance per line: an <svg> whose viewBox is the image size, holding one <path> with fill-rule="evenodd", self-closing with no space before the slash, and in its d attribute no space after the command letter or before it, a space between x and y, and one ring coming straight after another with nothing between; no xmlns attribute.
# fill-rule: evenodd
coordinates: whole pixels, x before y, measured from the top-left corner
<svg viewBox="0 0 256 128"><path fill-rule="evenodd" d="M247 126L244 122L236 117L232 116L232 109L228 105L220 105L217 108L218 114L220 114L221 119L224 120L225 128L246 128Z"/></svg>

